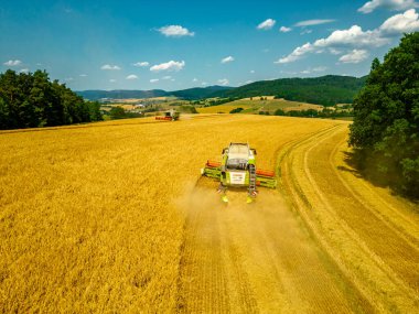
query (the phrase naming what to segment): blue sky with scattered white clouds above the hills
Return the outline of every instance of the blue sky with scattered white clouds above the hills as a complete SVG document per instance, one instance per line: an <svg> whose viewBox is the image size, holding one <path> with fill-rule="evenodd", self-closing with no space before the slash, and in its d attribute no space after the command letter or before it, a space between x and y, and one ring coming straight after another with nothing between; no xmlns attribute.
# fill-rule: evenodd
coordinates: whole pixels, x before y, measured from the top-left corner
<svg viewBox="0 0 419 314"><path fill-rule="evenodd" d="M0 2L0 72L46 69L75 90L239 86L363 76L416 0Z"/></svg>

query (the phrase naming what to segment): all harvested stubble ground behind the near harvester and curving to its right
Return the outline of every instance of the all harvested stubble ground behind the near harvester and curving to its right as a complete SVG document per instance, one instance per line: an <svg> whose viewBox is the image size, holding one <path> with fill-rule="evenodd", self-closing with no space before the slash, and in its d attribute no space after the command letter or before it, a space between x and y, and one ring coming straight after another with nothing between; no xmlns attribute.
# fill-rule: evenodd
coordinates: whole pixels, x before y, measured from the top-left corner
<svg viewBox="0 0 419 314"><path fill-rule="evenodd" d="M219 204L210 180L190 188L179 201L187 215L180 313L417 307L416 215L386 193L364 195L342 170L346 134L337 124L281 147L279 192L262 190L250 206L235 191Z"/></svg>

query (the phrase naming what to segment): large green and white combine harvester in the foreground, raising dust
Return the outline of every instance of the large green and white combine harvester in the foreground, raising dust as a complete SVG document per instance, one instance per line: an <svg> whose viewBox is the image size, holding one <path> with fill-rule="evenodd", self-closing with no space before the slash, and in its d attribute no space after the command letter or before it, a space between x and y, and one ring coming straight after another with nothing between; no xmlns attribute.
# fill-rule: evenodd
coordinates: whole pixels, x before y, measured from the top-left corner
<svg viewBox="0 0 419 314"><path fill-rule="evenodd" d="M230 143L222 152L222 162L207 161L201 174L219 181L218 193L225 203L228 203L228 186L247 187L248 204L255 201L257 186L277 187L273 171L256 169L256 150L247 143Z"/></svg>

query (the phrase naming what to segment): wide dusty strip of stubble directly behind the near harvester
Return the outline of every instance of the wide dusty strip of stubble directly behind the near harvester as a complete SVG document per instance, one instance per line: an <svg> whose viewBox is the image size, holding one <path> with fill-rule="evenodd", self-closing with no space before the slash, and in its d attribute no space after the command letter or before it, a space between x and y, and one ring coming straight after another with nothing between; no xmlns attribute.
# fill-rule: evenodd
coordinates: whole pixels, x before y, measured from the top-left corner
<svg viewBox="0 0 419 314"><path fill-rule="evenodd" d="M248 206L232 191L225 207L215 186L206 181L179 204L187 216L179 313L374 313L279 193L261 190Z"/></svg>

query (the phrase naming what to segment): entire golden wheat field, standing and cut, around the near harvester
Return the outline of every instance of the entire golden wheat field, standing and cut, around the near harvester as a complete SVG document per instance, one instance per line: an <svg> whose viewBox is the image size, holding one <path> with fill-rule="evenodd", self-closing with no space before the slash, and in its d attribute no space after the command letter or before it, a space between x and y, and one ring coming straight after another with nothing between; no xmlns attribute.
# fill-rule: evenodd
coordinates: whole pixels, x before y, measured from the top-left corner
<svg viewBox="0 0 419 314"><path fill-rule="evenodd" d="M365 181L348 122L254 115L0 132L1 313L417 313L418 205ZM200 178L249 142L256 203Z"/></svg>

